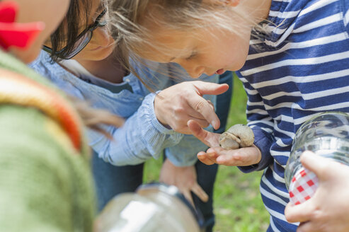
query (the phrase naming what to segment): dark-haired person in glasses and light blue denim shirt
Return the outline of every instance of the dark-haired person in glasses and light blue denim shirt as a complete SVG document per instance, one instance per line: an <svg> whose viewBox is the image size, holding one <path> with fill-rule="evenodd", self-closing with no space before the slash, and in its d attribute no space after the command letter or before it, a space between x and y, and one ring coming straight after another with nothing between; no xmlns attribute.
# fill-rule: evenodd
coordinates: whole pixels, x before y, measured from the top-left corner
<svg viewBox="0 0 349 232"><path fill-rule="evenodd" d="M30 66L70 95L88 100L95 108L103 108L126 118L124 127L106 128L115 141L88 131L93 149L98 208L102 209L121 192L135 191L142 183L144 161L152 156L158 158L165 149L167 158L161 168L160 180L178 186L188 199L192 199L191 192L197 195L193 200L205 216L207 231L211 231L214 224L212 195L217 166L209 167L198 162L196 153L207 149L207 146L193 136L178 133L188 132L186 122L193 118L207 127L205 118L195 110L190 110L188 105L183 105L179 100L181 96L165 97L173 95L178 89L184 90L181 87L183 85L173 86L173 81L166 74L160 74L171 66L154 64L151 67L153 70L145 67L136 70L143 79L151 79L147 83L151 83L154 90L163 89L159 95L164 98L160 98L150 93L134 74L127 73L118 63L115 54L112 54L115 45L108 30L108 11L103 1L91 1L91 10L86 16L81 10L86 8L84 2L72 2L80 4L79 7L70 8L67 14L67 21L73 23L68 24L67 28L67 24L62 23L51 35L51 42L45 44L44 50L50 53L41 52L40 57ZM86 18L86 22L81 20L79 14ZM81 39L84 37L86 40ZM70 38L73 40L70 41ZM52 59L57 62L52 63ZM158 73L157 66L161 68ZM217 81L217 75L209 78L204 75L203 78ZM205 82L198 83L204 88L207 85ZM166 88L168 86L171 87ZM214 88L207 93L223 92L219 86L217 90ZM223 88L225 91L226 88ZM230 97L227 105L229 102ZM176 111L188 114L178 117ZM190 115L190 112L194 114ZM222 129L224 126L225 123Z"/></svg>

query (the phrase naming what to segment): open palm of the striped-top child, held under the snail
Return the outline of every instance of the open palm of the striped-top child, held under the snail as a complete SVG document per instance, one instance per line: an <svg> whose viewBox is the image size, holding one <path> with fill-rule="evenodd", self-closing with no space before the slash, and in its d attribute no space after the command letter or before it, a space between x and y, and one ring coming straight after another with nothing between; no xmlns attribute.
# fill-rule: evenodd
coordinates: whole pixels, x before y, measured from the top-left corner
<svg viewBox="0 0 349 232"><path fill-rule="evenodd" d="M236 150L222 149L219 146L220 134L207 132L193 120L188 121L188 128L202 143L210 146L206 152L198 153L198 159L206 165L218 163L226 166L250 166L261 161L261 151L255 145Z"/></svg>

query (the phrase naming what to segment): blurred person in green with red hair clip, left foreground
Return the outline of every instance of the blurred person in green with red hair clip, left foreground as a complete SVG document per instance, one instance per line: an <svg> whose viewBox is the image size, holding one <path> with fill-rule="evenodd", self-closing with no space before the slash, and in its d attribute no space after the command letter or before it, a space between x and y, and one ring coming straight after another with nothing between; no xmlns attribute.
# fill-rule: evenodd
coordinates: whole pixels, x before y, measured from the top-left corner
<svg viewBox="0 0 349 232"><path fill-rule="evenodd" d="M25 64L38 56L68 6L69 0L0 1L1 231L93 228L83 121L66 95ZM88 112L87 124L108 115L105 122L121 125L109 114L79 108Z"/></svg>

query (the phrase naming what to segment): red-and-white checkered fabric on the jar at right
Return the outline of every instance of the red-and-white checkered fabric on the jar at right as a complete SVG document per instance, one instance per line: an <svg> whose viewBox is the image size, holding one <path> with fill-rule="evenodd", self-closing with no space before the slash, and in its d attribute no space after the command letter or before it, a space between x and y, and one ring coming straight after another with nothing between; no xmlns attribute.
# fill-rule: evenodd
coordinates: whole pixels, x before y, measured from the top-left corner
<svg viewBox="0 0 349 232"><path fill-rule="evenodd" d="M292 178L289 193L292 204L301 204L312 197L318 187L319 180L315 173L300 168Z"/></svg>

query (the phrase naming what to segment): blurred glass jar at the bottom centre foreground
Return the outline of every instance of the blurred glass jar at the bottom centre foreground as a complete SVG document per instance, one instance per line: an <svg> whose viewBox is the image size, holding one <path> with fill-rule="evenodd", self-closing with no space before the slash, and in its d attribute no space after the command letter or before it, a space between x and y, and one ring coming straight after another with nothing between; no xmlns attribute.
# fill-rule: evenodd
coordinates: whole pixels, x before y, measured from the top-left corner
<svg viewBox="0 0 349 232"><path fill-rule="evenodd" d="M202 224L202 215L177 187L154 183L110 200L98 216L94 231L199 232Z"/></svg>

